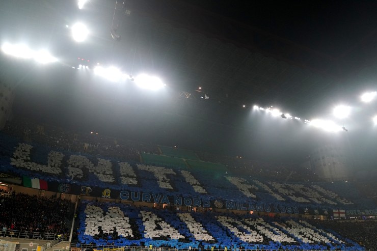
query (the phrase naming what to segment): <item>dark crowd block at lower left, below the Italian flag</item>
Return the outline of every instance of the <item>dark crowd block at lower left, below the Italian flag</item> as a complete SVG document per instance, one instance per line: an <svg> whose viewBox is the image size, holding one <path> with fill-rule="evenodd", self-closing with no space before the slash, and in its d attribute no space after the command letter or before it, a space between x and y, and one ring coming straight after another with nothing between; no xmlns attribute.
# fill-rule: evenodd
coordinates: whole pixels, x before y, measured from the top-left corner
<svg viewBox="0 0 377 251"><path fill-rule="evenodd" d="M55 197L24 193L0 196L0 226L3 230L66 235L73 211L70 201Z"/></svg>

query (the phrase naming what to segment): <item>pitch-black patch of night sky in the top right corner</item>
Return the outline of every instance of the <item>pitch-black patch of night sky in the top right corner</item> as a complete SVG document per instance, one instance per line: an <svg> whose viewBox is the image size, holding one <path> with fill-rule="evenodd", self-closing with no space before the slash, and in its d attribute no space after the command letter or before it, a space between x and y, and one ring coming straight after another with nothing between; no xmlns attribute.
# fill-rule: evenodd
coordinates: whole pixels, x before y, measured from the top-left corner
<svg viewBox="0 0 377 251"><path fill-rule="evenodd" d="M376 32L374 1L186 1L339 58Z"/></svg>

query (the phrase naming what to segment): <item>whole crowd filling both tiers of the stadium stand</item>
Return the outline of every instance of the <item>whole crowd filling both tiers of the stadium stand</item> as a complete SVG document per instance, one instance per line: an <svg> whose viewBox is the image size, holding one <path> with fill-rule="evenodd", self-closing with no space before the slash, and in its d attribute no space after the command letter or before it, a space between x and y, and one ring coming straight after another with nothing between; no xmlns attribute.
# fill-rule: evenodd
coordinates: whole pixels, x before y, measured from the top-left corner
<svg viewBox="0 0 377 251"><path fill-rule="evenodd" d="M248 162L252 166L248 169L246 164L244 168L240 164L241 167L238 168L235 165L227 166L220 161L230 160L231 157L207 158L214 160L207 162L195 160L194 157L189 159L190 154L193 154L190 151L179 151L180 156L185 158L178 155L159 155L164 151L167 154L169 150L175 150L167 147L158 149L153 144L132 143L109 148L106 144L114 142L114 138L101 137L98 144L93 145L93 142L77 133L50 131L48 126L35 126L34 129L21 127L21 137L10 128L11 126L6 133L0 133L2 173L18 177L35 177L45 180L48 184L76 185L80 189L84 188L81 191L84 194L98 188L99 193L96 194L101 197L102 192L102 198L119 199L119 193L111 197L110 191L114 195L115 191L125 189L129 191L128 199L134 196L141 200L143 193L150 193L150 200L152 193L163 194L170 198L178 196L209 200L214 203L211 207L219 208L227 201L230 206L233 205L233 210L237 210L239 206L234 202L251 203L256 207L259 204L259 207L264 209L275 204L279 207L309 208L322 210L321 212L328 212L329 208L355 209L358 205L366 208L375 207L373 200L360 196L361 191L355 189L352 182L307 182L303 179L305 172L300 178L305 182L283 182L284 177L292 176L293 167L274 167L272 164L236 158L232 160L233 163ZM64 139L70 136L73 136L74 140ZM91 138L94 135L87 136ZM128 154L122 154L127 151ZM203 155L198 155L204 159ZM140 162L141 160L143 162ZM156 160L160 161L157 163L161 165L157 165ZM279 169L281 171L278 175L268 178ZM257 170L260 171L255 172ZM280 179L276 179L277 176L281 176ZM106 189L109 190L108 193ZM148 200L148 197L145 198ZM3 210L0 223L5 225L6 231L13 228L14 231L67 234L66 222L73 212L70 202L30 197L22 193L8 193L1 199L4 201L1 203ZM30 219L38 214L40 220L29 222L20 215L19 210L10 213L12 210L9 207L15 206L14 201L21 200L28 203L19 206L19 210L22 210L24 215L29 215L27 217ZM298 218L299 212L292 211L275 214L253 208L249 210L253 214L247 211L248 214L236 215L218 211L217 208L199 210L189 206L178 207L158 203L151 203L150 207L136 207L131 204L133 202L125 203L82 201L78 211L79 243L76 246L93 245L100 248L152 245L182 249L227 247L253 250L363 250L366 247L373 250L373 238L368 234L375 233L375 221L368 221L370 223L365 225L359 222L339 225L342 224L339 221ZM71 210L67 211L67 208ZM47 211L44 211L45 209ZM306 213L307 211L300 211L300 214ZM46 222L47 225L42 226L40 222ZM370 231L365 235L352 236L350 233L353 228L358 229L360 233Z"/></svg>

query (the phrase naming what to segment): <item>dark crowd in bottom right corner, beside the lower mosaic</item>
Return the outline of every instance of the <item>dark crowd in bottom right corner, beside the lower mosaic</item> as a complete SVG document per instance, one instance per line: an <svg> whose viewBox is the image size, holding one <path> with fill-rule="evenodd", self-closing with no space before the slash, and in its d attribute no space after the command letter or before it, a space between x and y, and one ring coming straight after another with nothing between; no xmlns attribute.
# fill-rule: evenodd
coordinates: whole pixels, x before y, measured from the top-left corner
<svg viewBox="0 0 377 251"><path fill-rule="evenodd" d="M341 236L351 239L365 247L366 250L377 248L376 220L321 220L316 225L334 230Z"/></svg>

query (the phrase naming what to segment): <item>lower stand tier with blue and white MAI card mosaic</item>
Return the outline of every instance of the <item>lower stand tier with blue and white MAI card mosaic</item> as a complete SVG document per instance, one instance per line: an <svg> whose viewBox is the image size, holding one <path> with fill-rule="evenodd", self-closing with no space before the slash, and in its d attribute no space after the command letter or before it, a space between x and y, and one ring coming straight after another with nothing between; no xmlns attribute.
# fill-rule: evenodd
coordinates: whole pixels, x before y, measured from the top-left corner
<svg viewBox="0 0 377 251"><path fill-rule="evenodd" d="M80 243L83 244L95 243L98 246L110 240L114 245L144 243L146 246L187 249L209 249L211 246L234 249L363 249L358 243L303 219L179 212L114 203L93 204L89 201L83 205L78 230ZM106 212L105 216L103 212ZM140 228L142 234L138 238L131 235L131 228L137 229L128 224L131 218L134 219L132 222L143 224ZM124 223L115 225L115 222ZM118 229L119 224L123 224L126 232L119 232L114 240L109 226ZM95 237L98 235L97 229L106 230L102 238Z"/></svg>

